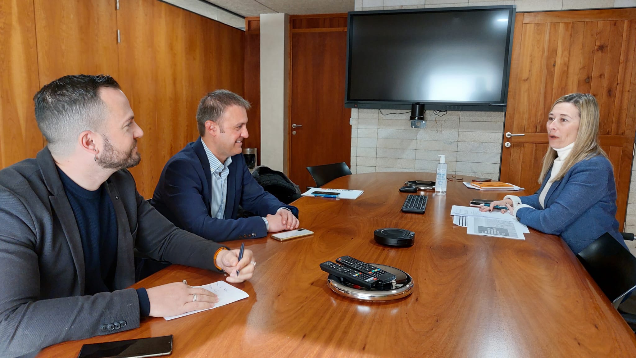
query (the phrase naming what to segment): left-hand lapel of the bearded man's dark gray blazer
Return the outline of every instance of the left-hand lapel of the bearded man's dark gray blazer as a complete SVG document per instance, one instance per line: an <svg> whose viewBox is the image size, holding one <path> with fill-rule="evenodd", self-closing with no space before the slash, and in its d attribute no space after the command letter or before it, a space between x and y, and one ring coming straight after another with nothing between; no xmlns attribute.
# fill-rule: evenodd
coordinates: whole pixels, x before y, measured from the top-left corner
<svg viewBox="0 0 636 358"><path fill-rule="evenodd" d="M42 177L44 178L46 188L52 193L48 196L51 203L53 213L60 221L64 236L69 242L69 248L71 249L71 255L73 256L73 262L75 264L75 270L78 275L79 294L84 294L85 287L85 266L84 266L84 250L81 246L81 237L79 237L78 224L75 220L75 214L71 209L71 204L66 197L66 191L60 176L57 174L57 167L53 162L53 157L48 148L44 148L38 152L36 157Z"/></svg>

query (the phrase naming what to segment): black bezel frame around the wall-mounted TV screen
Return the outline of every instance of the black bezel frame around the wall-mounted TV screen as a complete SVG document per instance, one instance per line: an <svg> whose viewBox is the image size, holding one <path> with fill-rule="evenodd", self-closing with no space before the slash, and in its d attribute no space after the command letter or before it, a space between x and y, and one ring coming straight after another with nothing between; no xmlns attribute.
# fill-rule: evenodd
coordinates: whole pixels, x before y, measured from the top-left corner
<svg viewBox="0 0 636 358"><path fill-rule="evenodd" d="M504 74L502 76L502 102L465 102L465 101L418 101L424 103L425 109L436 111L506 111L508 104L508 85L510 80L510 62L513 51L513 36L515 29L516 5L494 5L494 6L462 6L457 8L426 8L426 9L408 9L408 10L374 10L374 11L349 11L347 13L347 81L345 83L345 108L357 109L411 109L413 101L406 100L350 100L349 99L349 82L351 80L350 70L350 53L351 39L353 31L351 28L351 17L359 15L378 15L378 14L396 14L396 13L435 13L442 11L466 12L476 10L508 10L509 18L508 31L506 38L506 60L504 60Z"/></svg>

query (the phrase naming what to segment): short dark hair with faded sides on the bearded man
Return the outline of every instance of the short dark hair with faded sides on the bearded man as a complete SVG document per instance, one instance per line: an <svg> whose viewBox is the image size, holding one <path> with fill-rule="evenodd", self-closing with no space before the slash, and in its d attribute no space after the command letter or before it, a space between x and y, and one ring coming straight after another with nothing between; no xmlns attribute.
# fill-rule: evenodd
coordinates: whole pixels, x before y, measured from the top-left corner
<svg viewBox="0 0 636 358"><path fill-rule="evenodd" d="M106 116L106 104L99 97L102 87L120 88L105 74L77 74L55 79L36 93L36 121L51 153L71 153L81 132L102 127Z"/></svg>

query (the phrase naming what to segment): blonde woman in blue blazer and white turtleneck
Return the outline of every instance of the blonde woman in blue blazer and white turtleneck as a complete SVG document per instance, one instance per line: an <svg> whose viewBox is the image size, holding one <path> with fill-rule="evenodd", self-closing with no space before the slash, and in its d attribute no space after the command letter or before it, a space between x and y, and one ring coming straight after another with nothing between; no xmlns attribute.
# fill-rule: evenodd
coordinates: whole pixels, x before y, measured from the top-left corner
<svg viewBox="0 0 636 358"><path fill-rule="evenodd" d="M598 121L593 95L572 93L556 100L546 123L550 146L541 188L534 195L506 195L480 210L505 205L521 223L559 235L575 254L606 232L626 247L616 220L614 170L597 141Z"/></svg>

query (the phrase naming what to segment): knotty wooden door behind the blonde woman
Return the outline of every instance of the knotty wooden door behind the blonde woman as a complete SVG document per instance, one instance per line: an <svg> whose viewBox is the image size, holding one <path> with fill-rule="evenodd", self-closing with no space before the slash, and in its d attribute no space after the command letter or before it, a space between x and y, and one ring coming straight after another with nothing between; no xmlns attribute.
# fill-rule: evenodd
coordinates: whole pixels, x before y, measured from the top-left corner
<svg viewBox="0 0 636 358"><path fill-rule="evenodd" d="M614 166L616 219L625 221L636 128L636 9L518 13L508 90L501 179L539 188L548 149L546 121L562 95L591 93L600 107L599 142Z"/></svg>

